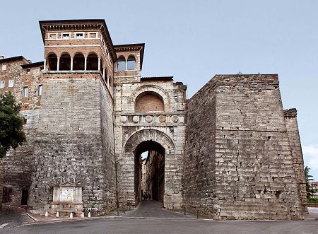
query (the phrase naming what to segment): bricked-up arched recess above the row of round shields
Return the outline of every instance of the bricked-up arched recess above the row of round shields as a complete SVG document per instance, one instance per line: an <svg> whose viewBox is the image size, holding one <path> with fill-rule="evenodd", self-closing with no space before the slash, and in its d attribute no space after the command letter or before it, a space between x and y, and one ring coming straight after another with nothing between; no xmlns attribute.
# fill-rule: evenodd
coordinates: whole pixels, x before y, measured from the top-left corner
<svg viewBox="0 0 318 234"><path fill-rule="evenodd" d="M135 112L163 112L164 103L163 98L154 92L143 92L136 98Z"/></svg>

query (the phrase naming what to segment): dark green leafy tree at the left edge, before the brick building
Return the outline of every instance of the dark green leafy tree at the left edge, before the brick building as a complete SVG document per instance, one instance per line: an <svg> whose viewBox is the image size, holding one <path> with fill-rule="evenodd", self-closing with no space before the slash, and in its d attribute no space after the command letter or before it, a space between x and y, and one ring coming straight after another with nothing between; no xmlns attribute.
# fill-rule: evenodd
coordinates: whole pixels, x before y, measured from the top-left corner
<svg viewBox="0 0 318 234"><path fill-rule="evenodd" d="M0 94L0 158L4 158L10 148L21 146L25 141L21 105L8 92Z"/></svg>

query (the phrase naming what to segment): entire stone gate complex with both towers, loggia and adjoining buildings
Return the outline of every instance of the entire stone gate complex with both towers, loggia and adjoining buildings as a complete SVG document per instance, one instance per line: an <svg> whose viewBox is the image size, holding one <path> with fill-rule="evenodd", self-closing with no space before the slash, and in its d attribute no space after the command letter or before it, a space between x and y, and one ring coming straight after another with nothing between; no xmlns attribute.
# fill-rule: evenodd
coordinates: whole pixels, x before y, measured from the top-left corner
<svg viewBox="0 0 318 234"><path fill-rule="evenodd" d="M22 103L28 139L1 160L2 202L102 215L147 194L216 219L307 213L297 111L283 110L278 75L216 75L187 100L172 76L142 77L145 45L113 45L104 20L40 30L44 62L0 59L0 93Z"/></svg>

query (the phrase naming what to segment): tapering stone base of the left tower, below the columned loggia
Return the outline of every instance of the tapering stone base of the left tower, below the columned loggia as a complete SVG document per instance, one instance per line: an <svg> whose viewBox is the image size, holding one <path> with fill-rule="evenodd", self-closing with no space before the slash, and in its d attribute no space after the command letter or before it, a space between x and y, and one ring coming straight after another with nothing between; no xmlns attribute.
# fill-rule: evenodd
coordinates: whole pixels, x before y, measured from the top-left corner
<svg viewBox="0 0 318 234"><path fill-rule="evenodd" d="M85 212L114 208L112 101L102 82L98 74L45 76L29 195L33 213L50 208L52 187L61 182L83 187Z"/></svg>

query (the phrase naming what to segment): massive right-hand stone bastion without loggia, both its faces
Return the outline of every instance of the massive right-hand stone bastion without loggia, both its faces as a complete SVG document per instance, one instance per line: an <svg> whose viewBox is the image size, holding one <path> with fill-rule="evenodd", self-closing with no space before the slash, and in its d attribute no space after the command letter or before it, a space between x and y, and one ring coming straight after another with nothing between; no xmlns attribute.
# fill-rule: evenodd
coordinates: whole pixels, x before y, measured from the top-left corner
<svg viewBox="0 0 318 234"><path fill-rule="evenodd" d="M215 76L189 100L185 151L184 185L200 182L184 187L189 209L213 218L302 218L277 75Z"/></svg>

